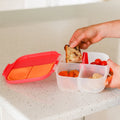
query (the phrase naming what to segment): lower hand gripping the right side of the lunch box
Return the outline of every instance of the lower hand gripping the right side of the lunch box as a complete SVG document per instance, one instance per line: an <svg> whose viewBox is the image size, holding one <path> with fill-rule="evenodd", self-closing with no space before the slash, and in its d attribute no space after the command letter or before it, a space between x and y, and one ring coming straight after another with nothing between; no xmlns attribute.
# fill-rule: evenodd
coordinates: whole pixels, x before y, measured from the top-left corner
<svg viewBox="0 0 120 120"><path fill-rule="evenodd" d="M120 88L120 66L114 63L112 60L108 60L107 64L113 70L113 75L106 87L110 88Z"/></svg>

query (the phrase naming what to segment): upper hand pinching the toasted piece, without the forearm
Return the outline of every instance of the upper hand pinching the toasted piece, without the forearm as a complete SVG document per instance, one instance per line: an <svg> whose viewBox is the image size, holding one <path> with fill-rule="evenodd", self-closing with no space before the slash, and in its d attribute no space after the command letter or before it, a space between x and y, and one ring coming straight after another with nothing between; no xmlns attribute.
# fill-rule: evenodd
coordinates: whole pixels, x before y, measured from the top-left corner
<svg viewBox="0 0 120 120"><path fill-rule="evenodd" d="M87 49L91 44L104 38L102 25L93 25L76 30L69 41L70 47L80 46L81 49Z"/></svg>

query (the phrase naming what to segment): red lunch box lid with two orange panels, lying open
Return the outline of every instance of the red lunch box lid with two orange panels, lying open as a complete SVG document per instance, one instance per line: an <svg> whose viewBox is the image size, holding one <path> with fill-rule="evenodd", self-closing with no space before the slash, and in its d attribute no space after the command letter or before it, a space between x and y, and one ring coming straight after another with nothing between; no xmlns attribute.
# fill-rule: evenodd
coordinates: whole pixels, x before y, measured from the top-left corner
<svg viewBox="0 0 120 120"><path fill-rule="evenodd" d="M59 56L56 51L24 55L8 64L2 75L11 84L43 80L54 72Z"/></svg>

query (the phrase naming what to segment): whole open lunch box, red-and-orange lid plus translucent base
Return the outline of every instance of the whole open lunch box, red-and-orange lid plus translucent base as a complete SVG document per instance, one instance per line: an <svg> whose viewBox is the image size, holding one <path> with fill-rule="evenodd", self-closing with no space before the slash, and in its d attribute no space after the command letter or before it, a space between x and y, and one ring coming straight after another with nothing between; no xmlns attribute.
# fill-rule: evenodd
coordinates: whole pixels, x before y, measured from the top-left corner
<svg viewBox="0 0 120 120"><path fill-rule="evenodd" d="M98 58L105 61L109 59L109 56L104 53L87 53L89 63ZM61 71L70 70L78 70L78 77L59 75ZM49 51L18 58L14 63L6 66L3 76L8 83L16 84L43 80L49 77L54 71L60 90L98 93L105 88L105 80L109 73L109 67L108 65L66 63L65 56L61 56L56 51ZM93 73L99 73L102 77L91 79L90 77Z"/></svg>

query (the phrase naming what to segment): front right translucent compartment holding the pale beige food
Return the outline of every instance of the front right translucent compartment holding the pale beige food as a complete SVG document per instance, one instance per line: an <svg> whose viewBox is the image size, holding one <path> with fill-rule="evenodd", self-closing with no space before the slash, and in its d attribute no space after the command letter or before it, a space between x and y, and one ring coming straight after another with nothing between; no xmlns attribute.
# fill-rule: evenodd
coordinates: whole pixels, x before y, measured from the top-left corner
<svg viewBox="0 0 120 120"><path fill-rule="evenodd" d="M98 66L90 64L80 65L80 75L77 79L78 89L81 92L98 93L105 88L105 80L107 78L109 68L107 66ZM92 78L93 74L100 74L100 78Z"/></svg>

